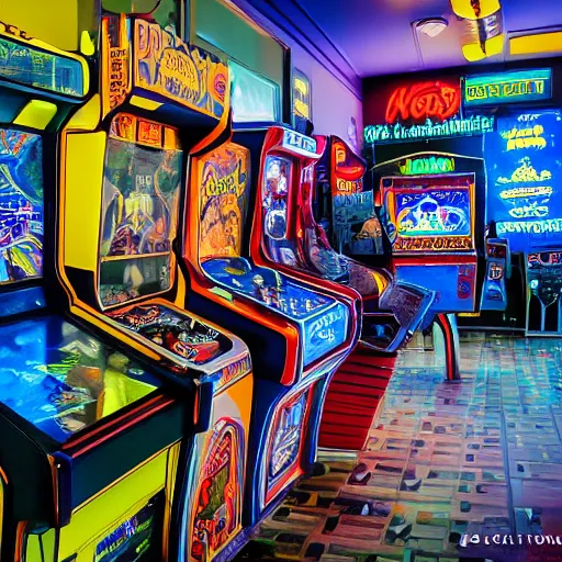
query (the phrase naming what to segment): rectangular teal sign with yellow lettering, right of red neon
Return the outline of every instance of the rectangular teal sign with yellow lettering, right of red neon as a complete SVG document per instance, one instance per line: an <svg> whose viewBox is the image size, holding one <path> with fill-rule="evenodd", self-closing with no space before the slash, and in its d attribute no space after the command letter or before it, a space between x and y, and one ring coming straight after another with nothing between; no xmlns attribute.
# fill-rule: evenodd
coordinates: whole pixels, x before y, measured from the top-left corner
<svg viewBox="0 0 562 562"><path fill-rule="evenodd" d="M465 108L550 100L552 69L468 76L463 93Z"/></svg>

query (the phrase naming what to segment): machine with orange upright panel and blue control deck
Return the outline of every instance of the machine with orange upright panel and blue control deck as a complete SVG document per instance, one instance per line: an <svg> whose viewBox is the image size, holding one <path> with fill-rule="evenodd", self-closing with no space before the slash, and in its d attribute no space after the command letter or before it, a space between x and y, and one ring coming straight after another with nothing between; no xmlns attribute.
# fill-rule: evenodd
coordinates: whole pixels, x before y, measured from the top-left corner
<svg viewBox="0 0 562 562"><path fill-rule="evenodd" d="M250 347L256 382L247 522L255 525L315 460L326 384L356 342L357 318L355 295L337 299L322 284L257 265L248 244L250 231L260 232L252 203L260 210L263 199L251 193L260 176L258 157L250 158L232 142L192 158L183 252L194 291L190 305ZM279 218L288 183L281 168L273 173L269 203ZM272 220L272 227L282 226Z"/></svg>

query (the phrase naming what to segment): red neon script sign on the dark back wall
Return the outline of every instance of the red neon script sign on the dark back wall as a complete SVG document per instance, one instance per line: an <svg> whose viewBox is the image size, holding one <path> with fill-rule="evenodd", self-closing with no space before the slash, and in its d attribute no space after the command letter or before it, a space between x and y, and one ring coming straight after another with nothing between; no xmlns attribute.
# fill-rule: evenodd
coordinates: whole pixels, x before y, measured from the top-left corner
<svg viewBox="0 0 562 562"><path fill-rule="evenodd" d="M461 94L458 85L439 81L419 82L396 88L386 106L386 123L422 123L434 119L443 122L459 113Z"/></svg>

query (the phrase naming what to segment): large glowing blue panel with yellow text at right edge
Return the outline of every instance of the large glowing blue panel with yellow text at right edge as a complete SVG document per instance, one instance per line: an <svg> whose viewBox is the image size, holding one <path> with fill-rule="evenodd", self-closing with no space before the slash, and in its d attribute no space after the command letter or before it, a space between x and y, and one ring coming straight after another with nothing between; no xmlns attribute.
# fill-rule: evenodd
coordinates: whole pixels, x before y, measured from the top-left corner
<svg viewBox="0 0 562 562"><path fill-rule="evenodd" d="M487 222L513 251L562 238L562 113L502 117L485 137Z"/></svg>

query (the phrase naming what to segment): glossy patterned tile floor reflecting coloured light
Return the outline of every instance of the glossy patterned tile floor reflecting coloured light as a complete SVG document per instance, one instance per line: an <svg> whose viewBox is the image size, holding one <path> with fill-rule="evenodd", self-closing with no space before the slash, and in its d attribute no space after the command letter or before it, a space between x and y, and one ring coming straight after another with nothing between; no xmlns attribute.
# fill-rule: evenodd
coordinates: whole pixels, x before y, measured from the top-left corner
<svg viewBox="0 0 562 562"><path fill-rule="evenodd" d="M562 560L562 342L470 336L461 383L403 352L367 449L325 454L238 560Z"/></svg>

